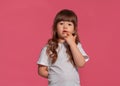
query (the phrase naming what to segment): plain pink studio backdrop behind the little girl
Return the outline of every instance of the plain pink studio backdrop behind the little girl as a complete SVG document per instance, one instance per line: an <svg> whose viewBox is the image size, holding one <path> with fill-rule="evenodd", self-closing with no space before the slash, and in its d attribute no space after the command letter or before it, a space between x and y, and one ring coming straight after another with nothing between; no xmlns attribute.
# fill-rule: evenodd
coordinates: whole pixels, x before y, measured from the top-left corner
<svg viewBox="0 0 120 86"><path fill-rule="evenodd" d="M72 9L90 61L79 69L82 86L120 86L119 0L1 0L0 86L47 86L36 61L51 37L55 14Z"/></svg>

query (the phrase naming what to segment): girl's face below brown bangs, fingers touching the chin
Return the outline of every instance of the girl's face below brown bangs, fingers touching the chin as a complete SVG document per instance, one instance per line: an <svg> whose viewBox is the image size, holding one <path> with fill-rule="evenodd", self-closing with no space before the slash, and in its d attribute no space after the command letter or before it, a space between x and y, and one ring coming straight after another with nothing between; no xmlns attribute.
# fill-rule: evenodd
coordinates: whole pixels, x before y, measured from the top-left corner
<svg viewBox="0 0 120 86"><path fill-rule="evenodd" d="M60 39L63 39L67 36L67 33L74 32L74 24L69 21L60 21L57 23L57 34Z"/></svg>

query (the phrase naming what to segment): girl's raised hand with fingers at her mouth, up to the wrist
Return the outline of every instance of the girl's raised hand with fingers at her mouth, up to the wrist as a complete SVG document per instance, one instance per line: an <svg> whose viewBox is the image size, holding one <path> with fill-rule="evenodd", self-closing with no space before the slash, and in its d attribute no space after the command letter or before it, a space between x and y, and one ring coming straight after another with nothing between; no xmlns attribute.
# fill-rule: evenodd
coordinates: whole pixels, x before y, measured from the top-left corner
<svg viewBox="0 0 120 86"><path fill-rule="evenodd" d="M68 43L68 45L72 45L72 44L75 44L76 35L73 36L70 32L68 32L66 33L66 36L64 39Z"/></svg>

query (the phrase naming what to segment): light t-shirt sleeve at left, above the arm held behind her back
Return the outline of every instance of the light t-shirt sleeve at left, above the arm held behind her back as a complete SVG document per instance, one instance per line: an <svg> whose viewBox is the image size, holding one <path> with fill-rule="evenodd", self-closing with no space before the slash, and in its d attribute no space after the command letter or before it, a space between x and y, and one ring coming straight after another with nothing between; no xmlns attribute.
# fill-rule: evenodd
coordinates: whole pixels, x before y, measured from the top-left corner
<svg viewBox="0 0 120 86"><path fill-rule="evenodd" d="M40 55L39 55L39 59L37 61L37 64L49 66L49 60L48 60L48 56L46 54L46 49L47 49L46 46L42 48Z"/></svg>

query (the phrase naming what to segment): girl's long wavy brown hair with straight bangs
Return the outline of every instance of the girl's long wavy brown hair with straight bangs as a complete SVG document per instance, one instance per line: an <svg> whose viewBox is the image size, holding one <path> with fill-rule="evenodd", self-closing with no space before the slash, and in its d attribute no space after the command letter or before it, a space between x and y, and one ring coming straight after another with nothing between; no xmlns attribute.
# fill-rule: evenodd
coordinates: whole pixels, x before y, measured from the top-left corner
<svg viewBox="0 0 120 86"><path fill-rule="evenodd" d="M57 23L60 21L70 21L74 24L74 31L76 34L76 44L78 44L78 42L80 42L79 37L78 37L78 33L77 33L77 16L76 14L72 11L72 10L68 10L68 9L63 9L60 12L57 13L57 15L55 16L54 22L53 22L53 26L52 26L52 38L48 40L48 46L47 46L47 55L52 59L52 63L55 63L55 61L57 60L57 51L56 49L58 48L58 35L57 35ZM66 53L69 56L69 61L74 64L74 60L72 57L72 53L70 50L69 46L65 46L66 47Z"/></svg>

